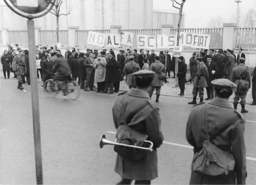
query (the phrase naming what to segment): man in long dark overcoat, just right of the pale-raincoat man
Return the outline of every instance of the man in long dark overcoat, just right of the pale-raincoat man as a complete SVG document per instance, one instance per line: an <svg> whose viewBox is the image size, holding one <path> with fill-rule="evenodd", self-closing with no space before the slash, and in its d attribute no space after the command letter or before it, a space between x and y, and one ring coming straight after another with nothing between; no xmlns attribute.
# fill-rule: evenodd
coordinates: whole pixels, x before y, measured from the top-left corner
<svg viewBox="0 0 256 185"><path fill-rule="evenodd" d="M106 64L106 76L105 76L105 90L102 93L113 94L113 82L115 80L115 68L116 59L114 58L114 51L109 51L108 53L110 59L107 60ZM108 92L109 88L109 92Z"/></svg>

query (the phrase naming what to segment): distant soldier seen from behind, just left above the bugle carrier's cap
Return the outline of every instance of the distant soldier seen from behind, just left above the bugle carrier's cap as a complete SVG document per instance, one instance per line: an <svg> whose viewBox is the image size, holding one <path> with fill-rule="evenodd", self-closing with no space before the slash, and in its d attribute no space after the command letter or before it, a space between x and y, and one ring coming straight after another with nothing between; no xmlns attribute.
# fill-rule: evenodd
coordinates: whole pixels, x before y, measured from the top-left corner
<svg viewBox="0 0 256 185"><path fill-rule="evenodd" d="M135 88L135 82L132 74L134 72L140 71L140 65L134 62L133 55L130 55L128 59L129 62L125 64L123 76L126 75L126 85L128 85L129 88Z"/></svg>

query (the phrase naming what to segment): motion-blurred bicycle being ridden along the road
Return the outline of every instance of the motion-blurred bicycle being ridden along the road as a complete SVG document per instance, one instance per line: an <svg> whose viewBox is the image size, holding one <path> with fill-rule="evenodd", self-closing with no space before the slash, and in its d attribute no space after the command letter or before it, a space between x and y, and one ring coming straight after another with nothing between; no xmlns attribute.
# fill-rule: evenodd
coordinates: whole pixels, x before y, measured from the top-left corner
<svg viewBox="0 0 256 185"><path fill-rule="evenodd" d="M70 100L76 100L79 97L79 89L76 82L69 80L69 77L64 81L49 79L44 82L44 91L49 97L56 97L60 91Z"/></svg>

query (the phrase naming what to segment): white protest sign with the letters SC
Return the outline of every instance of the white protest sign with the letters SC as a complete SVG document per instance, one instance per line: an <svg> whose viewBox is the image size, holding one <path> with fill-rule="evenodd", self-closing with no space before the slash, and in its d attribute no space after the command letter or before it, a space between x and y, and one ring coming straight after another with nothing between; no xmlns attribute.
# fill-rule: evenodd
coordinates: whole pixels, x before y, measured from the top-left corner
<svg viewBox="0 0 256 185"><path fill-rule="evenodd" d="M137 35L137 48L156 48L156 36L154 35Z"/></svg>

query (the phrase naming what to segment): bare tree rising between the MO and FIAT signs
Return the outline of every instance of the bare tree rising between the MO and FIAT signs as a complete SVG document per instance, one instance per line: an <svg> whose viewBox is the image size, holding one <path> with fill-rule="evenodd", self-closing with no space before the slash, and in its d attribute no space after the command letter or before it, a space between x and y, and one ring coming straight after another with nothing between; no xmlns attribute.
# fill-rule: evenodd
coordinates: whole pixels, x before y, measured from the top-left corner
<svg viewBox="0 0 256 185"><path fill-rule="evenodd" d="M183 6L184 6L184 3L186 2L186 0L181 0L181 3L178 3L177 0L171 0L171 1L172 1L172 7L179 10L179 20L178 20L178 28L177 28L177 46L179 46L182 11L183 11ZM175 59L175 74L176 74L175 87L176 88L179 86L178 85L177 72L178 72L178 58L176 57L176 59Z"/></svg>

